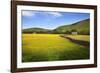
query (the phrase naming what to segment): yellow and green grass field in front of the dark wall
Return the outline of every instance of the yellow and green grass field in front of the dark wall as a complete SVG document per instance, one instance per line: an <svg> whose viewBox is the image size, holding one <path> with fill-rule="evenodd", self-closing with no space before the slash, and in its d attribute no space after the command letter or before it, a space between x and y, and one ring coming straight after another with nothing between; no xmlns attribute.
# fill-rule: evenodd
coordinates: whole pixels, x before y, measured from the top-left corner
<svg viewBox="0 0 100 73"><path fill-rule="evenodd" d="M89 59L89 48L59 34L23 34L22 62Z"/></svg>

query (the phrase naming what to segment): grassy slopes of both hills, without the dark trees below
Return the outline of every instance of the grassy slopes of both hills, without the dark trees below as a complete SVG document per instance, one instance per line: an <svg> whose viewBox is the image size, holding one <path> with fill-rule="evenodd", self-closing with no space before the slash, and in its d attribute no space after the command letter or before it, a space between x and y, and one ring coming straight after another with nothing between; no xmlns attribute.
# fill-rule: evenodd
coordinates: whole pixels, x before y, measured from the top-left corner
<svg viewBox="0 0 100 73"><path fill-rule="evenodd" d="M25 32L66 32L66 31L71 31L71 30L77 30L78 32L82 33L88 33L89 32L89 19L79 21L77 23L71 24L71 25L64 25L64 26L59 26L54 30L49 30L49 29L44 29L44 28L28 28L28 29L23 29L23 33Z"/></svg>

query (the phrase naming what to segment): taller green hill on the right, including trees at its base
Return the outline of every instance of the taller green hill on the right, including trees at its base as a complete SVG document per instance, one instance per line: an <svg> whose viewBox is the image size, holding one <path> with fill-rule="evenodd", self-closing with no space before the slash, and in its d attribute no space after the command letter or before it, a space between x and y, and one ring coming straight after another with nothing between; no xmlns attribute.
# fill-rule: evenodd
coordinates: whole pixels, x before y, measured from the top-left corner
<svg viewBox="0 0 100 73"><path fill-rule="evenodd" d="M72 31L76 31L79 34L89 34L89 30L90 30L90 20L86 19L71 25L60 26L54 29L53 31L59 33L70 33Z"/></svg>

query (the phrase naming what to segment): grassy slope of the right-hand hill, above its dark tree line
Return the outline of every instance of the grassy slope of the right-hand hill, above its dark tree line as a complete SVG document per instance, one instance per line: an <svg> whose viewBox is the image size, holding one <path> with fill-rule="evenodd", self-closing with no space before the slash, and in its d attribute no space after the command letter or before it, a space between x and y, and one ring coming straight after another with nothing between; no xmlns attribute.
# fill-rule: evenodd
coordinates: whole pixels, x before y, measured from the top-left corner
<svg viewBox="0 0 100 73"><path fill-rule="evenodd" d="M81 32L81 31L84 31L84 32L89 31L89 29L90 29L89 28L89 19L74 23L72 25L60 26L60 27L56 28L55 30L64 32L66 30L70 31L72 29L75 29L75 30L77 30L79 32Z"/></svg>

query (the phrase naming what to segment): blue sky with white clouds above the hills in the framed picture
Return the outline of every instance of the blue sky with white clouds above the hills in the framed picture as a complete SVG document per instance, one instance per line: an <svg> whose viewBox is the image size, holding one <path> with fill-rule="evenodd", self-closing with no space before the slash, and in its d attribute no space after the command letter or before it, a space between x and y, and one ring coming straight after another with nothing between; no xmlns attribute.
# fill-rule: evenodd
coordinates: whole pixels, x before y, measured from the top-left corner
<svg viewBox="0 0 100 73"><path fill-rule="evenodd" d="M22 28L55 29L90 18L89 13L22 10Z"/></svg>

